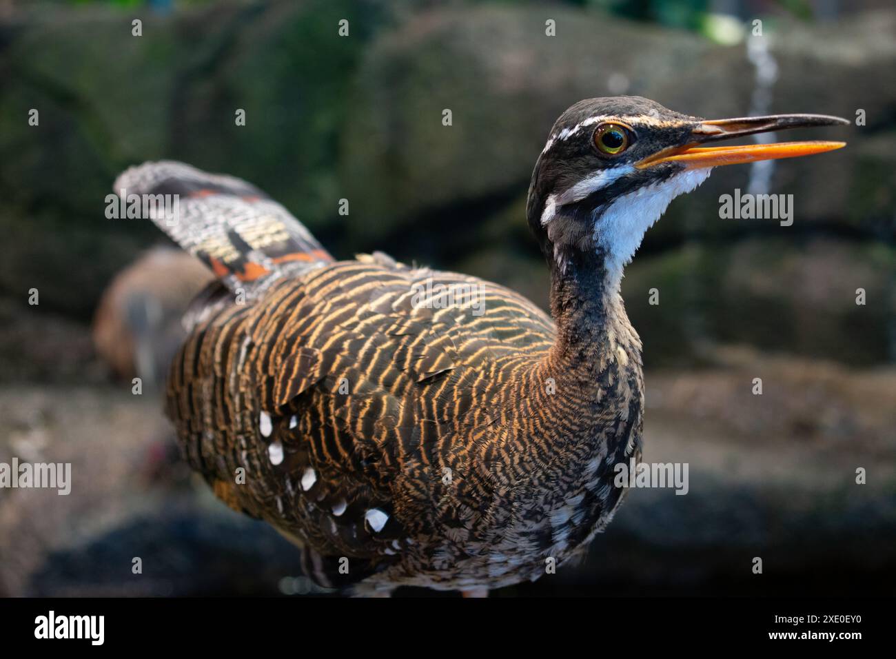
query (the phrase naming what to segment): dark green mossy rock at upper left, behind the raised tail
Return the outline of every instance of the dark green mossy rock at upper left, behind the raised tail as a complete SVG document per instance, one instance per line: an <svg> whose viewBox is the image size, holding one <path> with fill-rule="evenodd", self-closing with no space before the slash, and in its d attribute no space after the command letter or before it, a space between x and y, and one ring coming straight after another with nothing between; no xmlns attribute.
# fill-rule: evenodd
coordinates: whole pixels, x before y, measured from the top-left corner
<svg viewBox="0 0 896 659"><path fill-rule="evenodd" d="M37 287L47 306L90 317L113 274L159 237L149 221L103 214L116 175L144 160L244 177L312 230L335 220L349 85L383 11L210 4L148 13L139 38L131 13L108 5L0 18L0 288ZM337 35L341 18L351 38Z"/></svg>

